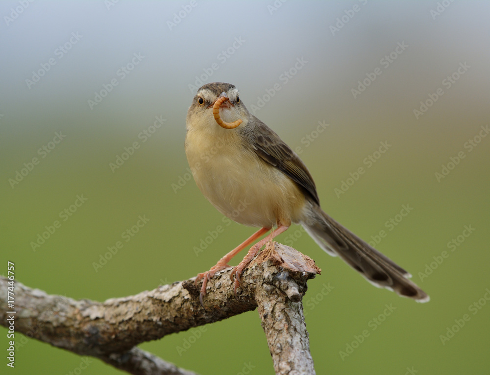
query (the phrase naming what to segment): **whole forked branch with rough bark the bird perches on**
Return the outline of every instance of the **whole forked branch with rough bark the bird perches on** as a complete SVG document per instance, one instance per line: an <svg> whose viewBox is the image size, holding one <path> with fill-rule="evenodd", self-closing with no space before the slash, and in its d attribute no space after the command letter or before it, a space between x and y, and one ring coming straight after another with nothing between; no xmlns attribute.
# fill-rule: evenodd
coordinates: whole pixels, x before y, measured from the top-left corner
<svg viewBox="0 0 490 375"><path fill-rule="evenodd" d="M306 281L320 273L313 260L273 242L245 270L239 301L229 270L208 282L203 309L194 280L174 282L135 296L99 303L49 295L15 282L15 330L80 355L100 358L130 374L193 374L136 345L214 323L259 305L277 374L313 374L302 305ZM0 322L6 321L7 281L0 278ZM288 370L289 369L289 370ZM303 369L307 369L304 370Z"/></svg>

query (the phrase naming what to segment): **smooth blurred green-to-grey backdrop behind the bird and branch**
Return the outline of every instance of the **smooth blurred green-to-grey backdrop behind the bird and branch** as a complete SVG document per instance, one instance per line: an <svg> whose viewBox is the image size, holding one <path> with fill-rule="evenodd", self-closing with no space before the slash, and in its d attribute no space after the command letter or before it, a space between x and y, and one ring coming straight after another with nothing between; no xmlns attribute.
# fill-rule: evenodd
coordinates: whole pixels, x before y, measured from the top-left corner
<svg viewBox="0 0 490 375"><path fill-rule="evenodd" d="M243 241L253 229L232 223L196 256L222 215L187 181L183 147L196 80L230 82L300 147L323 209L366 240L384 230L376 247L431 296L420 305L376 289L292 227L277 240L323 271L304 301L317 374L488 373L489 11L484 1L2 1L0 273L10 260L27 286L103 301L193 277ZM307 62L295 71L297 59ZM358 81L368 86L356 94ZM103 85L110 92L91 106ZM165 119L159 128L155 117ZM319 122L329 126L316 133ZM145 140L144 131L154 132ZM139 148L111 170L133 142ZM391 147L369 167L380 142ZM443 165L451 170L438 181ZM359 167L365 173L338 196ZM15 184L17 172L25 176ZM77 195L87 200L60 216ZM403 205L413 210L397 221ZM126 242L140 215L147 223ZM467 237L465 226L474 228ZM117 241L123 248L96 270ZM200 374L239 374L245 364L273 373L257 312L205 329L185 352L177 347L193 330L141 347ZM16 341L16 374L67 374L82 360ZM93 359L82 373L121 372Z"/></svg>

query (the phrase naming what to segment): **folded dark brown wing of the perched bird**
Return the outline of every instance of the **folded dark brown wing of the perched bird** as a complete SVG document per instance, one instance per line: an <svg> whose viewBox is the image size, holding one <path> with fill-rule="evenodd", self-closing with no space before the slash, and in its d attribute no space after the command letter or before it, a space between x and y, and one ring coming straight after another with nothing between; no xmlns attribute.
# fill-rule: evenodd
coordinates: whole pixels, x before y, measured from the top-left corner
<svg viewBox="0 0 490 375"><path fill-rule="evenodd" d="M296 153L266 124L259 119L255 121L256 135L253 140L254 151L266 162L279 168L301 188L304 188L319 205L315 182L306 165Z"/></svg>

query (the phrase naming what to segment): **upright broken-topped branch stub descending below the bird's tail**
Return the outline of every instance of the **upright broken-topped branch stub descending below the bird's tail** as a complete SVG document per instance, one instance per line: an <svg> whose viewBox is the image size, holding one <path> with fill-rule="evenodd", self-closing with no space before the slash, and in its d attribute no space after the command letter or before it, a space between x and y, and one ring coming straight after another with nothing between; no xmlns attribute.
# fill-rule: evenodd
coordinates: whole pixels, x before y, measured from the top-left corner
<svg viewBox="0 0 490 375"><path fill-rule="evenodd" d="M258 281L263 284L255 285L254 290L262 328L276 374L315 374L303 305L298 302L307 287L307 279L301 279L320 270L310 258L298 262L296 250L280 246L275 243L275 250L268 248L256 259L255 267L263 275L263 281ZM277 272L278 269L288 271Z"/></svg>

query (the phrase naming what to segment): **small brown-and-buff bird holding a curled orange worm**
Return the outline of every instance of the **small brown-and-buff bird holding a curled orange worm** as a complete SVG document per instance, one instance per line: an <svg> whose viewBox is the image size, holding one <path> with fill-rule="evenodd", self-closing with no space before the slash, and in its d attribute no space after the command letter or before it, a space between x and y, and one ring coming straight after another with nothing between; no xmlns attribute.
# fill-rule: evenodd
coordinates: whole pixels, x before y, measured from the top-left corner
<svg viewBox="0 0 490 375"><path fill-rule="evenodd" d="M235 86L221 82L202 86L189 107L186 124L185 151L197 187L223 215L261 228L209 271L197 275L196 283L203 279L201 305L207 281L230 267L228 262L240 250L276 227L233 268L236 296L245 267L266 242L292 223L301 224L325 252L342 258L373 285L417 302L429 301L409 280L412 275L322 211L306 165L248 112Z"/></svg>

